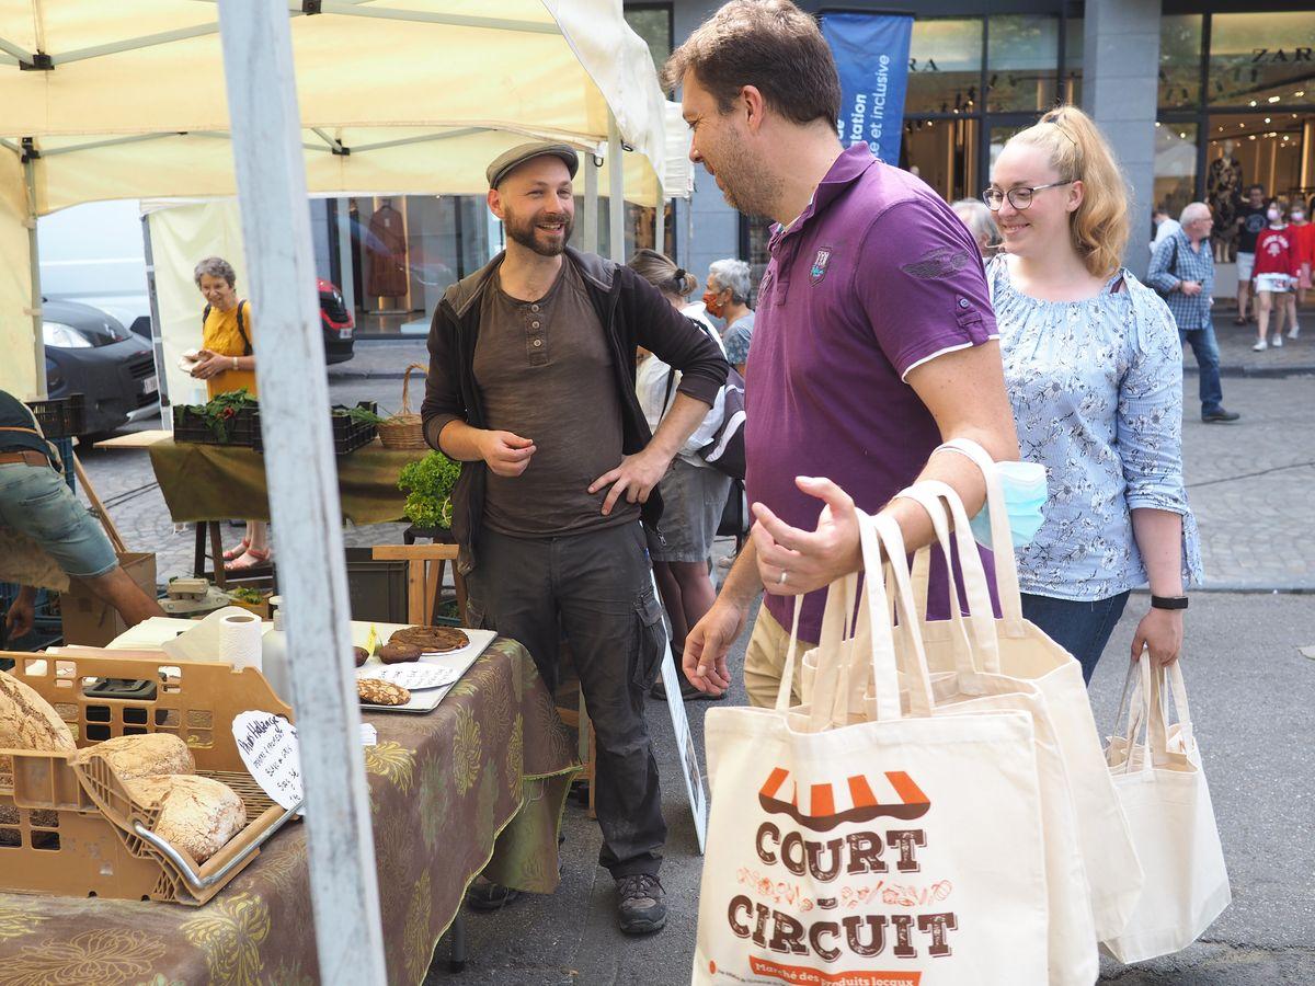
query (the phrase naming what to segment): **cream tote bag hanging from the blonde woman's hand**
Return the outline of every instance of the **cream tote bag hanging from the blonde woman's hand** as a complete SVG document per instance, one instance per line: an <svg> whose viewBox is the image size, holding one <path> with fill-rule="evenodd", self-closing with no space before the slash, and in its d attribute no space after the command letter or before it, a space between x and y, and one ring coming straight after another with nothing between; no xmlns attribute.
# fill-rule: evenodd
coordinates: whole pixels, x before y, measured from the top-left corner
<svg viewBox="0 0 1315 986"><path fill-rule="evenodd" d="M1182 661L1139 676L1123 736L1110 740L1110 776L1123 802L1145 870L1141 899L1120 935L1102 941L1120 962L1178 952L1195 941L1232 901L1219 828L1201 752L1191 731ZM1165 681L1178 713L1166 724ZM1127 692L1127 689L1124 689ZM1145 740L1137 741L1145 728Z"/></svg>

